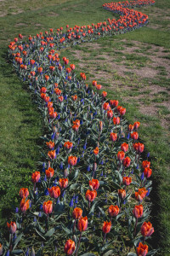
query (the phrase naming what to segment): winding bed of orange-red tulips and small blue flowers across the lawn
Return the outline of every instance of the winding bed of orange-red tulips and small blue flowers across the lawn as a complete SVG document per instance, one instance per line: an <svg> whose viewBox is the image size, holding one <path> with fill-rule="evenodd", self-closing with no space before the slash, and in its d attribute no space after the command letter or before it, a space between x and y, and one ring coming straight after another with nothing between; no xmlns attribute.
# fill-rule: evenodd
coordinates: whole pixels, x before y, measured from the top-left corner
<svg viewBox="0 0 170 256"><path fill-rule="evenodd" d="M131 6L149 3L154 1L134 1ZM20 34L10 43L9 58L37 102L46 134L42 168L31 174L32 189L19 191L20 207L8 223L9 241L1 237L0 255L144 256L149 252L154 228L148 222L146 198L152 170L148 159L141 160L140 123L127 124L126 108L107 99L105 91L99 93L102 85L97 81L89 88L85 73L77 79L75 65L66 57L60 60L57 53L85 38L144 25L146 15L129 6L105 3L106 9L124 15L120 20L108 19L109 25L67 26L66 32L62 27L57 32L50 29L49 34L30 36L29 42L23 42ZM150 250L150 255L154 253Z"/></svg>

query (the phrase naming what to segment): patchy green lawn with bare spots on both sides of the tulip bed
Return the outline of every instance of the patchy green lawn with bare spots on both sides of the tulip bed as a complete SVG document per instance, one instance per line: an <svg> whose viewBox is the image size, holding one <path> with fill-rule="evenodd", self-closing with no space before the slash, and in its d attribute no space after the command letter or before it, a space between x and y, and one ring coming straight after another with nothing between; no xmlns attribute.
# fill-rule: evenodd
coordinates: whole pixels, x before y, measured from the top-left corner
<svg viewBox="0 0 170 256"><path fill-rule="evenodd" d="M29 185L30 174L39 168L39 146L43 134L42 119L25 84L8 63L7 47L14 37L69 24L88 25L111 18L102 9L102 1L1 2L1 228L17 206L20 186ZM169 1L157 1L155 7L140 9L149 15L150 24L138 31L100 38L95 43L63 49L88 82L97 79L110 98L127 108L131 123L141 122L140 140L150 151L153 174L151 222L155 243L161 255L170 253L169 206ZM83 11L82 11L83 10ZM97 49L97 50L96 50ZM12 207L11 207L12 205ZM163 239L162 239L163 238Z"/></svg>

